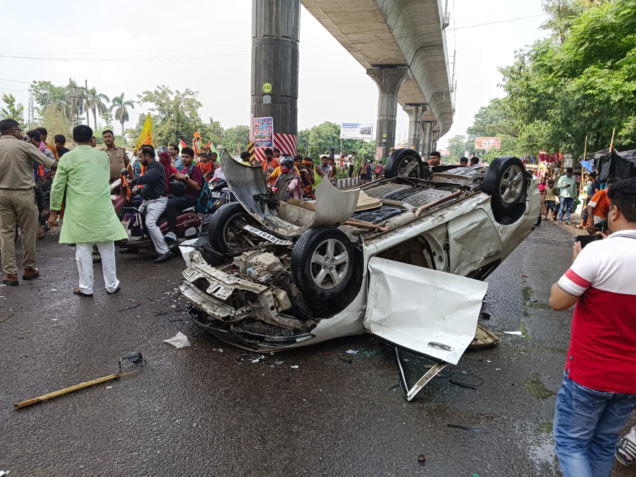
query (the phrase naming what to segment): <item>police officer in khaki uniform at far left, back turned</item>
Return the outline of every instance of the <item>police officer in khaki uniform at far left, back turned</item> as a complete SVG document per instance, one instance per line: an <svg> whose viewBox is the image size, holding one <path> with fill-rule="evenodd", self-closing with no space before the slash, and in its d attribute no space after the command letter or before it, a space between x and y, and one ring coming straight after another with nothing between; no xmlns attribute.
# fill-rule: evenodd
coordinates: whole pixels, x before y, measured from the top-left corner
<svg viewBox="0 0 636 477"><path fill-rule="evenodd" d="M33 165L57 169L57 162L45 156L36 146L22 139L18 121L0 121L0 248L2 268L6 275L3 283L18 285L18 266L15 261L15 221L22 232L22 280L39 275L36 268L36 243L38 240L38 205L36 204Z"/></svg>

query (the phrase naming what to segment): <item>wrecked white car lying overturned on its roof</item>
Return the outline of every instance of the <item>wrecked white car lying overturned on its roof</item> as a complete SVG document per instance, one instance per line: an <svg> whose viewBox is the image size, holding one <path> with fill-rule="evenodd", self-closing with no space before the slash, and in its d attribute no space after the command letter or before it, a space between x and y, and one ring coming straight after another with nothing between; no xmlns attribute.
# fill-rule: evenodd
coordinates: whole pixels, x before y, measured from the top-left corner
<svg viewBox="0 0 636 477"><path fill-rule="evenodd" d="M429 169L399 149L387 178L351 191L322 181L309 202L277 198L260 167L221 162L239 202L186 250L181 292L197 326L259 352L370 331L438 361L435 372L457 364L481 280L539 215L536 178L511 156Z"/></svg>

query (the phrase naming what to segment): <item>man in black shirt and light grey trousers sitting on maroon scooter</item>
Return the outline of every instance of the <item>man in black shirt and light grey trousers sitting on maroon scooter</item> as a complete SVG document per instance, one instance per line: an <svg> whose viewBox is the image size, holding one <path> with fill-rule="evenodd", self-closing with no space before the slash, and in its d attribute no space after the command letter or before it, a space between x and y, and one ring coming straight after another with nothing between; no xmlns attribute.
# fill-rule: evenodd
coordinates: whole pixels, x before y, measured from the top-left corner
<svg viewBox="0 0 636 477"><path fill-rule="evenodd" d="M155 259L155 263L163 263L173 254L168 249L165 239L157 225L159 216L165 212L168 204L168 195L165 188L165 170L161 163L155 160L155 149L152 146L143 146L139 151L139 162L146 168L144 175L135 177L130 184L137 186L143 184L141 188L141 197L144 202L139 206L139 212L146 211L146 230L153 239L153 245L159 256Z"/></svg>

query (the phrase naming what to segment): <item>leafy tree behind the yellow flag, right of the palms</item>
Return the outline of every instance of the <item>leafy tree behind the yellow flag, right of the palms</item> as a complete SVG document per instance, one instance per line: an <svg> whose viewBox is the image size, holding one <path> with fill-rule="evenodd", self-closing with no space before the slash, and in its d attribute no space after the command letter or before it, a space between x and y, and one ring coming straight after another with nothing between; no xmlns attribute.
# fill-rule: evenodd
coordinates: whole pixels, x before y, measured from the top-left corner
<svg viewBox="0 0 636 477"><path fill-rule="evenodd" d="M211 121L211 130L206 130L205 136L204 132L200 131L204 123L198 114L201 103L197 95L198 92L190 88L186 88L184 92L179 90L172 92L165 85L158 85L154 91L144 91L137 95L139 104L148 104L148 109L151 111L155 144L168 144L168 142L176 142L179 138L188 143L196 131L201 132L202 137L207 141L222 139L222 137L214 138L207 135L215 131L214 121Z"/></svg>

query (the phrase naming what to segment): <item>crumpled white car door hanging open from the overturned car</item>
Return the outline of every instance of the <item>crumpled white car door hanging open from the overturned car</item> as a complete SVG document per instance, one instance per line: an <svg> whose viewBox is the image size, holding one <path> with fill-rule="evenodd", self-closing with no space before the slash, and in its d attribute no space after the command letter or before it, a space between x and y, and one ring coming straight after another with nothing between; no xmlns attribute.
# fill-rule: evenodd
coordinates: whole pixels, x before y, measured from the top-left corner
<svg viewBox="0 0 636 477"><path fill-rule="evenodd" d="M474 339L486 282L372 257L369 283L364 328L396 347L457 364Z"/></svg>

